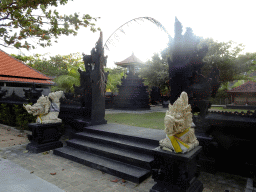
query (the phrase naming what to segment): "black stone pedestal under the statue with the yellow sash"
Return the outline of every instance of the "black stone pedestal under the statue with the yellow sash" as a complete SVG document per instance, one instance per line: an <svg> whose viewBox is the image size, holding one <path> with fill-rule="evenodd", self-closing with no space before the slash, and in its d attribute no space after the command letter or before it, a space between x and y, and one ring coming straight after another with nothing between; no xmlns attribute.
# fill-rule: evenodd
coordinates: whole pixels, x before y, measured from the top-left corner
<svg viewBox="0 0 256 192"><path fill-rule="evenodd" d="M185 154L153 150L152 178L157 182L150 192L202 192L203 184L197 180L200 168L197 165L202 147L197 146Z"/></svg>

